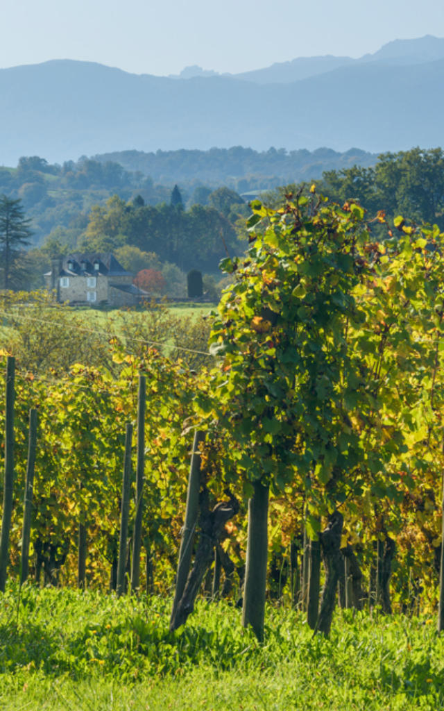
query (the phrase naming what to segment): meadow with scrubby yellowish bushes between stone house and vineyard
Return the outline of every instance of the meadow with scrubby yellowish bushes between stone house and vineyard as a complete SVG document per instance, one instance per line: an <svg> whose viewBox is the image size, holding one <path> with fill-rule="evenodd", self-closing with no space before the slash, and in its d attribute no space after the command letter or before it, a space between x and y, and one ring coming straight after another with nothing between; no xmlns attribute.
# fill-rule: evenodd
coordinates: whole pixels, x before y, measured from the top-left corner
<svg viewBox="0 0 444 711"><path fill-rule="evenodd" d="M75 359L104 365L109 341L116 337L127 353L138 353L146 344L161 348L165 355L200 367L207 353L210 314L214 304L175 303L158 309L112 309L79 307L65 309L46 304L15 304L0 311L0 347L12 350L18 361L36 373L48 368L66 370ZM57 337L72 333L72 338ZM172 349L175 349L172 351ZM191 353L194 355L191 355Z"/></svg>

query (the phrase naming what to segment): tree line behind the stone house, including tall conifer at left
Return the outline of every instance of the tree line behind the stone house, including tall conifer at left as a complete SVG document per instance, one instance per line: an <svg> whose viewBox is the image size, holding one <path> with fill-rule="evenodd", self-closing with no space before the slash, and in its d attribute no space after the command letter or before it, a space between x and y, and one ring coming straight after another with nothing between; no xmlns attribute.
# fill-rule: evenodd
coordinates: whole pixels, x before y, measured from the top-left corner
<svg viewBox="0 0 444 711"><path fill-rule="evenodd" d="M207 205L186 210L178 186L171 191L169 203L155 206L146 205L140 195L132 201L114 195L105 205L93 205L84 215L82 227L59 227L41 247L25 251L32 239L31 220L26 218L20 199L4 195L0 203L4 287L42 287L51 260L67 252L114 252L122 266L134 274L141 269L159 270L166 293L185 296L186 272L217 272L222 257L242 250L237 223L247 205L228 188L209 191L205 198ZM5 220L12 208L16 221L11 231ZM22 239L23 230L26 240ZM212 280L207 282L214 292Z"/></svg>

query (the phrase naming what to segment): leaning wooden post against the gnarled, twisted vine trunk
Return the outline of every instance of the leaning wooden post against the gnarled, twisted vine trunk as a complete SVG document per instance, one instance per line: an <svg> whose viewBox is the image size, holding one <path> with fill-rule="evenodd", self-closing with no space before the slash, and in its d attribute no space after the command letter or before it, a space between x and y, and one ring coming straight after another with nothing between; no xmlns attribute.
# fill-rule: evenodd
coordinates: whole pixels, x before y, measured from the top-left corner
<svg viewBox="0 0 444 711"><path fill-rule="evenodd" d="M173 611L171 612L170 624L175 620L175 612L180 599L185 590L188 573L190 572L191 558L193 556L193 540L199 513L199 491L200 491L200 452L199 444L205 439L205 432L197 430L193 439L193 451L191 453L190 475L188 477L187 506L185 510L185 525L183 526L183 536L180 542L178 572L175 579L175 593L173 601Z"/></svg>

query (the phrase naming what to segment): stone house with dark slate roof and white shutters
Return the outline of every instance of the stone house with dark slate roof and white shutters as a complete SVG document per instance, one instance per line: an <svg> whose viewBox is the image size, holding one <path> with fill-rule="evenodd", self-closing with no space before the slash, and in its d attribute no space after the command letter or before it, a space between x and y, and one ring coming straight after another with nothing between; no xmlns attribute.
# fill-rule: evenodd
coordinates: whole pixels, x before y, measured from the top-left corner
<svg viewBox="0 0 444 711"><path fill-rule="evenodd" d="M119 264L111 252L73 252L53 260L45 276L47 289L57 300L69 304L134 306L148 294L133 284L133 274Z"/></svg>

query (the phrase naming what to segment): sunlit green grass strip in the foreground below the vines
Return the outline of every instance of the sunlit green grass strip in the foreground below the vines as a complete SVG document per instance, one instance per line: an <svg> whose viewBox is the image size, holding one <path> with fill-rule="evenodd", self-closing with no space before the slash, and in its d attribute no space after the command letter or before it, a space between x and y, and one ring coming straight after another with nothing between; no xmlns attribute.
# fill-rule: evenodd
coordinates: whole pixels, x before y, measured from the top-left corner
<svg viewBox="0 0 444 711"><path fill-rule="evenodd" d="M168 631L170 600L10 587L0 600L0 707L55 711L444 709L434 620L350 611L330 639L267 610L259 645L240 611L201 602Z"/></svg>

